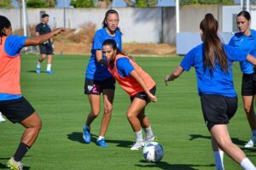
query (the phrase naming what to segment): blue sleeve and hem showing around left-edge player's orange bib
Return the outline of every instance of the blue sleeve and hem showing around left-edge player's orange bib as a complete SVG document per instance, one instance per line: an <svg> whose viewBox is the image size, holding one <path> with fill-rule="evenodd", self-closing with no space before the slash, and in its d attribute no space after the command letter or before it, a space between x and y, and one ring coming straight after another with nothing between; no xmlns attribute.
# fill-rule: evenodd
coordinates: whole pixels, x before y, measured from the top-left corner
<svg viewBox="0 0 256 170"><path fill-rule="evenodd" d="M25 46L27 37L10 35L6 38L4 43L4 51L9 54L10 57L17 57L20 54L21 48ZM0 100L18 99L22 95L15 94L0 94Z"/></svg>

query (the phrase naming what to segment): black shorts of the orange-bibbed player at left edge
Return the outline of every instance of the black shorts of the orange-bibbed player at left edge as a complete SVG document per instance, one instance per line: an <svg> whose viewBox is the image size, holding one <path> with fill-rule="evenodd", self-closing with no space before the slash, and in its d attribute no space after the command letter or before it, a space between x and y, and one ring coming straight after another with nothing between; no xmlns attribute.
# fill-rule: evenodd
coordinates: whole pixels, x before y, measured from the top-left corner
<svg viewBox="0 0 256 170"><path fill-rule="evenodd" d="M0 111L13 123L21 122L35 112L24 97L0 101Z"/></svg>

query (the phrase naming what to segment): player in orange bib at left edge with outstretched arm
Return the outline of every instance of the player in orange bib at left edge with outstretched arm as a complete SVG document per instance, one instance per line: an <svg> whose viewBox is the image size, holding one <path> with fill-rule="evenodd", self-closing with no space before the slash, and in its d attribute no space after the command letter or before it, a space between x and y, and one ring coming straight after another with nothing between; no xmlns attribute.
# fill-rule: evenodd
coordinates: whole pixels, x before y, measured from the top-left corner
<svg viewBox="0 0 256 170"><path fill-rule="evenodd" d="M11 169L22 170L20 161L38 138L41 129L40 117L20 92L20 49L43 43L61 31L64 28L38 37L15 36L12 35L9 20L0 15L0 111L10 122L18 122L26 128L15 155L7 162L7 167Z"/></svg>

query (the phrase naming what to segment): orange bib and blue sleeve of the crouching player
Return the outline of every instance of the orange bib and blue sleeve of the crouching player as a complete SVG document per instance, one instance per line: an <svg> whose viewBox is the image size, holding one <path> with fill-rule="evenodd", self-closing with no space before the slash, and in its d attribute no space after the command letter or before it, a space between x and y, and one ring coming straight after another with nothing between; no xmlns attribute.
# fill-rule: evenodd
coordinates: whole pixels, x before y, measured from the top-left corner
<svg viewBox="0 0 256 170"><path fill-rule="evenodd" d="M129 62L127 62L127 60L122 58L129 59L127 56L118 54L113 61L113 65L108 65L108 71L111 72L113 77L117 80L117 82L119 82L119 85L125 90L127 94L134 96L135 94L144 91L137 80L130 76L131 71L134 70L136 70L140 77L143 78L143 81L145 82L148 90L154 88L155 82L148 75L148 73L143 71L143 69L133 60L129 59ZM122 73L120 74L120 72Z"/></svg>

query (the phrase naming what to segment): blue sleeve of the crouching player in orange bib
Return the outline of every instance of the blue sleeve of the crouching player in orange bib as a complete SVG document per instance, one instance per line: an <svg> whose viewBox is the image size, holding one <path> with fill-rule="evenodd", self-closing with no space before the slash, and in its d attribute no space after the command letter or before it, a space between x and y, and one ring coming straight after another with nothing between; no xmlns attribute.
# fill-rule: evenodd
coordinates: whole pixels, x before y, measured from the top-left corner
<svg viewBox="0 0 256 170"><path fill-rule="evenodd" d="M116 67L121 77L129 77L134 67L131 65L129 59L119 58L116 60Z"/></svg>

